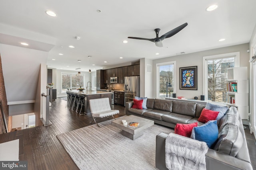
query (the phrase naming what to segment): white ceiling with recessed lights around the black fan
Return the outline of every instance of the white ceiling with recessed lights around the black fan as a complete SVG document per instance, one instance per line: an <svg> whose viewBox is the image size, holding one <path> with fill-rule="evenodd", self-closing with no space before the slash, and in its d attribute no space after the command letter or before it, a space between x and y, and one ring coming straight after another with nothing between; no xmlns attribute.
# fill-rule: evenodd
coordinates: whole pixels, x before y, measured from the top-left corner
<svg viewBox="0 0 256 170"><path fill-rule="evenodd" d="M212 4L218 8L206 12ZM88 71L89 67L100 69L141 58L248 43L256 23L255 7L256 0L5 0L0 2L0 24L13 29L0 27L0 43L20 46L21 39L27 40L33 44L26 48L49 51L48 67L75 70L81 60L81 71ZM47 16L46 10L57 17ZM154 38L156 28L161 29L161 36L185 22L188 26L182 31L162 41L164 47L127 39ZM14 33L16 29L20 31ZM31 34L24 35L21 30ZM48 43L43 36L33 39L34 34L52 37L55 42ZM219 42L221 38L226 40ZM124 40L128 43L122 43Z"/></svg>

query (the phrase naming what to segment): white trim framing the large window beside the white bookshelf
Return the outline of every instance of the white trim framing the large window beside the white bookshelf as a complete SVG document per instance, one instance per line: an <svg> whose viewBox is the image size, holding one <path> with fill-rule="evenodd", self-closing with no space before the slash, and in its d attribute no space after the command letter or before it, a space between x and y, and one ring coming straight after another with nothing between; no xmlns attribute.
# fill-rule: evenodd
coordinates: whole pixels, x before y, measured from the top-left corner
<svg viewBox="0 0 256 170"><path fill-rule="evenodd" d="M210 59L223 59L228 57L234 57L234 67L240 66L240 52L234 52L234 53L224 53L224 54L218 54L218 55L210 55L210 56L204 56L203 57L203 95L205 96L205 100L208 99L208 65L206 64L207 60ZM220 102L216 102L220 103Z"/></svg>

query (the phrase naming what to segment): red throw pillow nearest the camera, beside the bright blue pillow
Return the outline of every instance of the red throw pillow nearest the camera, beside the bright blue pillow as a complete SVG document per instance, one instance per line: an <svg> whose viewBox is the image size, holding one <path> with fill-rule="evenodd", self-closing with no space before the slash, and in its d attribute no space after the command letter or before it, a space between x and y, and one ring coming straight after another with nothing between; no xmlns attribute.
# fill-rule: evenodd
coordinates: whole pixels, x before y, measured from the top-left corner
<svg viewBox="0 0 256 170"><path fill-rule="evenodd" d="M193 127L197 127L197 122L190 124L177 123L174 128L174 133L185 137L190 137Z"/></svg>

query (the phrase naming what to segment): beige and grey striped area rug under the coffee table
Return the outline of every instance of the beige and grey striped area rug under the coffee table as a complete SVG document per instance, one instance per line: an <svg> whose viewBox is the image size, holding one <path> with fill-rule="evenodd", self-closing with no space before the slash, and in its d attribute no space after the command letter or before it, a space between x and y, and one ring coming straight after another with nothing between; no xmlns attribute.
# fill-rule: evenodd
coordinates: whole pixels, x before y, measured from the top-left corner
<svg viewBox="0 0 256 170"><path fill-rule="evenodd" d="M99 123L101 127L94 124L57 137L81 170L156 169L156 135L174 130L155 124L132 141L112 126L111 121Z"/></svg>

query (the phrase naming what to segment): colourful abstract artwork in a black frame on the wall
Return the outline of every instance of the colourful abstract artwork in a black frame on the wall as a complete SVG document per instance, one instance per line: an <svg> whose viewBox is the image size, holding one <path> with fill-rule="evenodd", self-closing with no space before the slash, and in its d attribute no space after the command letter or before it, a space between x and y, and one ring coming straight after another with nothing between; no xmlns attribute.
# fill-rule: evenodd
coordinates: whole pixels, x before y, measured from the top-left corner
<svg viewBox="0 0 256 170"><path fill-rule="evenodd" d="M197 66L180 67L180 90L197 90Z"/></svg>

